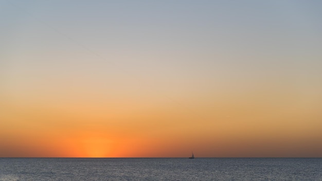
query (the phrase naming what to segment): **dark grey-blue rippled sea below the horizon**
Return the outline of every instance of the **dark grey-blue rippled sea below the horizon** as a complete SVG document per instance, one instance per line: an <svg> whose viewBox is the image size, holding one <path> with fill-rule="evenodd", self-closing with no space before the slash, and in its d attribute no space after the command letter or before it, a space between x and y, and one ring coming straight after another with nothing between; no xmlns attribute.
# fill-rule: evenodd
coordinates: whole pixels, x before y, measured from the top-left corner
<svg viewBox="0 0 322 181"><path fill-rule="evenodd" d="M322 180L322 158L0 158L0 180Z"/></svg>

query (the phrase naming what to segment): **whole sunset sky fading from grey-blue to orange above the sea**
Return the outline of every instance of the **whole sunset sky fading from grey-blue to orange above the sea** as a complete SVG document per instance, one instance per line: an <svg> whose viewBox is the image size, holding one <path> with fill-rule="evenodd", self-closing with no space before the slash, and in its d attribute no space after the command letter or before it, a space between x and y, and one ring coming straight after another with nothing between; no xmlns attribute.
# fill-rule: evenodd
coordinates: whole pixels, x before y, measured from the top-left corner
<svg viewBox="0 0 322 181"><path fill-rule="evenodd" d="M0 157L322 157L320 1L0 1Z"/></svg>

